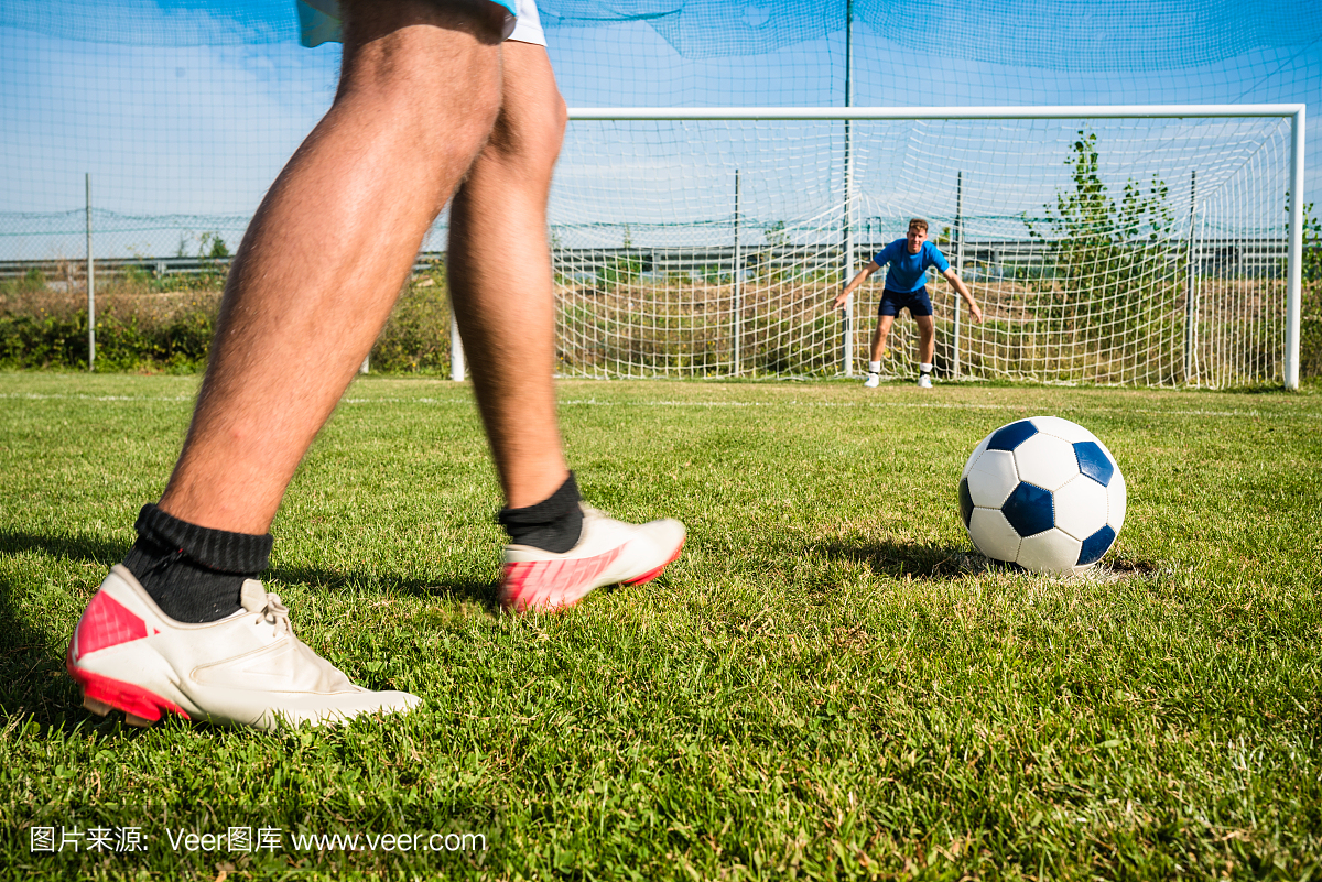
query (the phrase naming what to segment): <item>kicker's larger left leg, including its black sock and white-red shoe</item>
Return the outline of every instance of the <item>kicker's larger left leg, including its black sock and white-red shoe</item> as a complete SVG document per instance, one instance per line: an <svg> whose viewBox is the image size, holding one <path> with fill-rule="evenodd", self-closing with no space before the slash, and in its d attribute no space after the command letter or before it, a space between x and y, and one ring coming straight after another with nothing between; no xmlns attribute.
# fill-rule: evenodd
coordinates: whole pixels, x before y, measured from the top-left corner
<svg viewBox="0 0 1322 882"><path fill-rule="evenodd" d="M340 90L239 248L184 452L79 621L85 704L258 726L399 710L299 642L255 576L290 478L500 106L494 5L352 0ZM193 676L206 671L205 677Z"/></svg>

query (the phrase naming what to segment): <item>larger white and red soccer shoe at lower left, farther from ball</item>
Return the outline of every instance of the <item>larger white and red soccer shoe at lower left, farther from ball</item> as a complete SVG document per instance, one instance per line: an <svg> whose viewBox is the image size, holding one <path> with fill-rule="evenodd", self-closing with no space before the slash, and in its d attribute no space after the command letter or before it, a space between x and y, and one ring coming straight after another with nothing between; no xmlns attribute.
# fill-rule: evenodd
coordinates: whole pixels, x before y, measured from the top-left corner
<svg viewBox="0 0 1322 882"><path fill-rule="evenodd" d="M408 710L407 692L371 692L293 635L290 611L262 582L243 582L243 609L218 622L176 622L134 574L116 564L91 598L65 664L83 691L83 706L123 710L135 726L163 712L186 720L334 724L362 713Z"/></svg>

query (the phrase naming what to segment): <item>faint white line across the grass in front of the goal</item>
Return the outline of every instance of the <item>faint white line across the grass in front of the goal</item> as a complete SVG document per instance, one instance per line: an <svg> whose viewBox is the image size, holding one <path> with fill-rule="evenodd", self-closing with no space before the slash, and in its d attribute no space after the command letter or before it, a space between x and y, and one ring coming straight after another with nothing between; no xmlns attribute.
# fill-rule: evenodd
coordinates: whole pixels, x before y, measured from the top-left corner
<svg viewBox="0 0 1322 882"><path fill-rule="evenodd" d="M193 395L178 395L178 396L132 396L132 395L41 395L36 392L13 392L5 393L0 392L0 400L4 399L17 399L17 400L30 400L30 401L57 401L57 400L70 400L70 401L165 401L171 404L190 404L196 396ZM452 399L434 399L434 397L416 397L416 399L402 399L402 397L354 397L354 399L341 399L341 404L472 404L472 397L452 397ZM598 399L566 399L559 403L561 407L657 407L657 408L914 408L914 409L931 409L931 411L1025 411L1022 404L973 404L973 403L948 403L948 401L801 401L798 399L789 399L787 401L674 401L674 400L649 400L649 401L599 401ZM1157 408L1114 408L1114 407L1080 407L1080 405L1066 405L1062 408L1064 412L1079 412L1079 413L1147 413L1153 416L1208 416L1218 419L1248 419L1248 420L1277 420L1277 419L1293 419L1303 417L1307 420L1322 420L1322 412L1310 411L1296 411L1290 413L1270 413L1264 411L1163 411Z"/></svg>

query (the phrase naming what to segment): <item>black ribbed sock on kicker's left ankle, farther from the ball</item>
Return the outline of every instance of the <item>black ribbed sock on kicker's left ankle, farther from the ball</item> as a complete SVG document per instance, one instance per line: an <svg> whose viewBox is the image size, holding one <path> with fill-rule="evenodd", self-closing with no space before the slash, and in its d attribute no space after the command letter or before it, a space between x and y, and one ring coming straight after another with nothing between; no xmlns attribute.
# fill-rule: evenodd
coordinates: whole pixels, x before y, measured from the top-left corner
<svg viewBox="0 0 1322 882"><path fill-rule="evenodd" d="M243 580L255 578L271 557L271 535L198 527L143 506L128 568L165 615L176 622L214 622L242 609Z"/></svg>

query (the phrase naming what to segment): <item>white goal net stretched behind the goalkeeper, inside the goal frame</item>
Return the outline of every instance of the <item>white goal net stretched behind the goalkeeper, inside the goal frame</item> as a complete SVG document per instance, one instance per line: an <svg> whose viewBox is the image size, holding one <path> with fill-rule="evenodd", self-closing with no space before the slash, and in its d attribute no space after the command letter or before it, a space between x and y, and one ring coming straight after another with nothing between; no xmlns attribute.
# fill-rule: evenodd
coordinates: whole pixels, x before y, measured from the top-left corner
<svg viewBox="0 0 1322 882"><path fill-rule="evenodd" d="M986 314L933 277L939 375L1280 382L1289 154L1288 118L572 120L559 370L857 371L882 276L846 333L846 265L923 217ZM915 345L906 314L883 372Z"/></svg>

